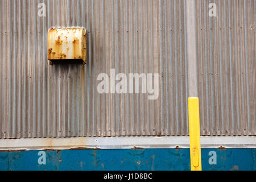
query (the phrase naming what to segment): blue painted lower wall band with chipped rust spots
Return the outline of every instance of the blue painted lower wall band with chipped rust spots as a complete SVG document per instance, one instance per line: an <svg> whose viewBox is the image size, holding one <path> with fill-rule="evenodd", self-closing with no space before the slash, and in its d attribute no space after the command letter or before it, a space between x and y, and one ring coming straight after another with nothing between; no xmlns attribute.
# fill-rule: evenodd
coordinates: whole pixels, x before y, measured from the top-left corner
<svg viewBox="0 0 256 182"><path fill-rule="evenodd" d="M190 170L188 148L39 152L0 152L0 170ZM256 169L255 148L203 148L201 157L203 170ZM46 164L39 164L44 159Z"/></svg>

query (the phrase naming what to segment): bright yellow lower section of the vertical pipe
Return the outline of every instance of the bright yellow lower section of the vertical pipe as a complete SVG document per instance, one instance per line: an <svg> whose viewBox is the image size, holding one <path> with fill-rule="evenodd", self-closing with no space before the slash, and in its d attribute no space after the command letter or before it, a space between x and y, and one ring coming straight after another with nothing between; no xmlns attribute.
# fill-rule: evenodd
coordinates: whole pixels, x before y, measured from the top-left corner
<svg viewBox="0 0 256 182"><path fill-rule="evenodd" d="M201 171L199 98L188 97L189 143L191 171Z"/></svg>

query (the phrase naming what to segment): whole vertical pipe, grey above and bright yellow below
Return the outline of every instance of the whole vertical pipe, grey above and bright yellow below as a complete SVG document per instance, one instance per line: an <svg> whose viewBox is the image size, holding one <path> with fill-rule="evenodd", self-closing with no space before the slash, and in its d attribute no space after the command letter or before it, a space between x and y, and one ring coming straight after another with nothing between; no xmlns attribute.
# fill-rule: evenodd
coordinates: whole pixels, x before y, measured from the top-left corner
<svg viewBox="0 0 256 182"><path fill-rule="evenodd" d="M191 171L201 171L199 98L197 91L195 0L186 1L188 53L188 120Z"/></svg>

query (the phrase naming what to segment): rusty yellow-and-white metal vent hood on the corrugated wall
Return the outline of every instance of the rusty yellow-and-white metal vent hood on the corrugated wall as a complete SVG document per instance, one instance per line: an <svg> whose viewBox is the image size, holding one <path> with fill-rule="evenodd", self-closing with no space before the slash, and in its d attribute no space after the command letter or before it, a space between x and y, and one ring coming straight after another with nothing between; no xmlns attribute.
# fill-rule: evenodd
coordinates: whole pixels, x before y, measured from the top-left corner
<svg viewBox="0 0 256 182"><path fill-rule="evenodd" d="M86 30L84 28L49 29L48 60L83 60L86 63Z"/></svg>

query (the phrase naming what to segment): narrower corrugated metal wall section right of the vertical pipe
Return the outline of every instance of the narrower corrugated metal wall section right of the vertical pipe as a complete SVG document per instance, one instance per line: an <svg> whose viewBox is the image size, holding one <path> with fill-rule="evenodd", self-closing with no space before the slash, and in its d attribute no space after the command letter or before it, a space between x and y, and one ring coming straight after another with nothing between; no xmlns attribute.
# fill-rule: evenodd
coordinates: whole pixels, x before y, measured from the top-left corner
<svg viewBox="0 0 256 182"><path fill-rule="evenodd" d="M256 1L196 2L201 134L255 135Z"/></svg>

